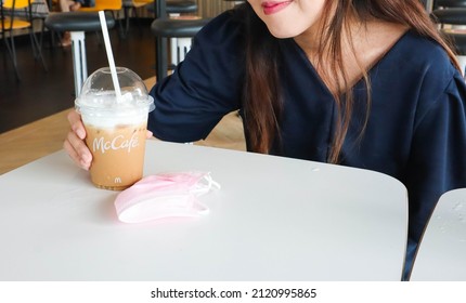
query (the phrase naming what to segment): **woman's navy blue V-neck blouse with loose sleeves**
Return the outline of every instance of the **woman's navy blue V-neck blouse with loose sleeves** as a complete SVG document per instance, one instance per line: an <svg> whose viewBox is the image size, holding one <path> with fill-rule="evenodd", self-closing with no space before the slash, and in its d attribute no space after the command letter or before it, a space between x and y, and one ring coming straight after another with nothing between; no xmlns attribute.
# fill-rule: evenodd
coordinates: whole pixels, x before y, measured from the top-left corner
<svg viewBox="0 0 466 303"><path fill-rule="evenodd" d="M241 25L229 13L203 28L185 61L151 91L156 108L148 128L155 136L205 139L225 114L241 109L243 43ZM334 98L294 39L280 40L280 48L282 146L271 154L326 161ZM409 234L417 242L440 195L466 187L465 82L440 45L412 31L372 67L370 79L367 126L358 141L366 109L360 81L341 163L389 174L406 186Z"/></svg>

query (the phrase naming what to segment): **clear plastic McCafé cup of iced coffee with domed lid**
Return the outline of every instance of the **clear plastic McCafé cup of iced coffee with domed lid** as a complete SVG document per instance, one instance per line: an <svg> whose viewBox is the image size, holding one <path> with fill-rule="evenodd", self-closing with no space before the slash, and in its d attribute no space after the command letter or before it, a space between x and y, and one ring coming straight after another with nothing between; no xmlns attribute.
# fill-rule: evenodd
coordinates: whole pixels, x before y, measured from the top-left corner
<svg viewBox="0 0 466 303"><path fill-rule="evenodd" d="M154 109L142 79L117 67L121 97L117 100L108 67L95 70L82 84L75 107L92 153L90 175L100 188L122 190L143 176L147 115Z"/></svg>

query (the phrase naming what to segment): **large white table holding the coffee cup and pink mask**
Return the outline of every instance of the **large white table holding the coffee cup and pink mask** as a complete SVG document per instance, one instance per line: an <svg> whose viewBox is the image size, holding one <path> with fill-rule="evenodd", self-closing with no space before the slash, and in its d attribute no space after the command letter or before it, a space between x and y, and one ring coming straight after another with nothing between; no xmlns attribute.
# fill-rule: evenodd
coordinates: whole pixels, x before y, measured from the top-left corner
<svg viewBox="0 0 466 303"><path fill-rule="evenodd" d="M150 141L145 174L210 171L196 219L125 224L59 152L0 176L0 280L400 280L404 186L340 166Z"/></svg>

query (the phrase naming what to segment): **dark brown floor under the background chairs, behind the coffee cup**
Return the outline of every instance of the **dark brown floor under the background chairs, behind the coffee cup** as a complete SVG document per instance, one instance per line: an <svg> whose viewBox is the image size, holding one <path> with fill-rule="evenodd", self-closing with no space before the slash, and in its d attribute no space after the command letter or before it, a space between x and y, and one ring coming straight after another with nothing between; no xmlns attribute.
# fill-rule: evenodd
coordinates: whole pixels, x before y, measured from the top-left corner
<svg viewBox="0 0 466 303"><path fill-rule="evenodd" d="M129 67L142 79L155 75L155 41L150 26L151 19L143 19L140 27L134 23L126 38L119 37L117 28L109 30L116 65ZM51 41L50 35L44 35L42 52L48 66L44 71L33 57L28 37L15 39L21 74L21 81L16 81L0 40L0 133L74 106L72 50L52 45ZM86 35L89 74L108 66L102 41L95 32Z"/></svg>

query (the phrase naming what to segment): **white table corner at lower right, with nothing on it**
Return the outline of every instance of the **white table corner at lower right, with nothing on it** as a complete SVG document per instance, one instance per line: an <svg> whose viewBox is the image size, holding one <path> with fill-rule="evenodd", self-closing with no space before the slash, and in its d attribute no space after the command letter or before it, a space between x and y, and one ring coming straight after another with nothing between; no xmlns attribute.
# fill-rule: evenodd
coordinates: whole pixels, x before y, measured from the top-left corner
<svg viewBox="0 0 466 303"><path fill-rule="evenodd" d="M410 280L466 281L466 188L440 197Z"/></svg>

